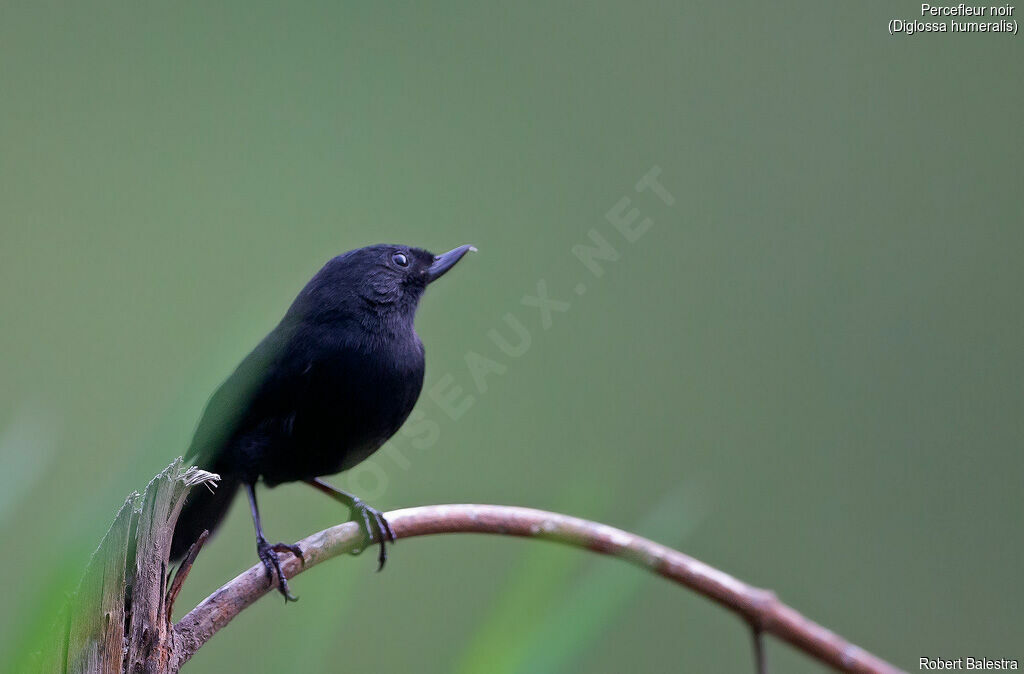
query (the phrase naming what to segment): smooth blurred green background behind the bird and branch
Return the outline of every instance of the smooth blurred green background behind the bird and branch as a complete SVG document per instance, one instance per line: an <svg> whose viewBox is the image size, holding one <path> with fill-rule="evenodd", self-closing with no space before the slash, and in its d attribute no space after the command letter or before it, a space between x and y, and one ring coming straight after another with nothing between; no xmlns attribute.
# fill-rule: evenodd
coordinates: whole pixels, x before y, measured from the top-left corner
<svg viewBox="0 0 1024 674"><path fill-rule="evenodd" d="M1024 658L1024 38L912 2L0 5L0 666L329 257L476 244L418 319L475 394L341 478L637 531L906 669ZM662 169L671 207L636 181ZM653 224L628 243L624 197ZM621 258L595 278L591 229ZM570 303L545 330L538 281ZM586 294L577 295L585 283ZM526 326L511 359L487 337ZM478 392L465 355L507 369ZM403 467L404 466L404 467ZM381 481L380 474L385 475ZM344 514L263 492L268 536ZM726 612L484 537L296 579L194 672L735 672ZM236 504L180 607L255 561ZM820 667L777 642L774 671Z"/></svg>

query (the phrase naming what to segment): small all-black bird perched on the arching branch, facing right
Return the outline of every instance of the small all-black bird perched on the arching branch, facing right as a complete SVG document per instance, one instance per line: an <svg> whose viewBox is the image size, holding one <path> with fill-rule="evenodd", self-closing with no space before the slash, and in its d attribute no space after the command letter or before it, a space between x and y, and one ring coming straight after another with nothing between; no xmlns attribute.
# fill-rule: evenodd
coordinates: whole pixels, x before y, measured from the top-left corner
<svg viewBox="0 0 1024 674"><path fill-rule="evenodd" d="M276 328L227 378L203 413L186 459L220 474L215 491L194 490L178 517L171 558L178 559L227 513L244 488L256 526L256 553L267 577L294 600L279 552L256 507L256 482L304 481L348 506L367 542L394 541L387 520L355 496L322 479L351 468L401 426L423 387L423 343L413 326L428 284L472 246L443 255L378 245L330 260L295 298Z"/></svg>

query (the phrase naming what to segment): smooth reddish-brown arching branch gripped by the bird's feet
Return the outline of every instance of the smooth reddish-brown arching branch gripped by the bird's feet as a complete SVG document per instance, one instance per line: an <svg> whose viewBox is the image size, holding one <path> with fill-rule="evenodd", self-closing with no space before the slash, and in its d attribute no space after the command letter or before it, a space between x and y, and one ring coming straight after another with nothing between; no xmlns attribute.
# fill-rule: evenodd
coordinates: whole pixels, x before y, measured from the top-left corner
<svg viewBox="0 0 1024 674"><path fill-rule="evenodd" d="M645 538L606 524L532 508L495 505L436 505L386 514L395 537L430 534L501 534L556 541L620 557L658 574L739 615L755 630L767 632L805 654L846 672L900 670L804 618L775 595ZM350 552L362 543L354 522L313 534L301 541L304 564L293 556L283 563L291 578L322 561ZM187 661L232 618L272 589L261 564L236 577L204 599L174 626L179 663Z"/></svg>

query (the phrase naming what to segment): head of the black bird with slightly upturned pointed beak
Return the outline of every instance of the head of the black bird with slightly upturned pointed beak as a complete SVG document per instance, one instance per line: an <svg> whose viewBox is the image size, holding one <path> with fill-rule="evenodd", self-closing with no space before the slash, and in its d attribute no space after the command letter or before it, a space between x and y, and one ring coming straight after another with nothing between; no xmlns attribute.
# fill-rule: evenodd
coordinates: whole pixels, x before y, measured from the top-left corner
<svg viewBox="0 0 1024 674"><path fill-rule="evenodd" d="M293 310L303 319L332 314L412 321L423 291L440 279L472 246L434 255L422 248L378 244L328 261L306 285Z"/></svg>

